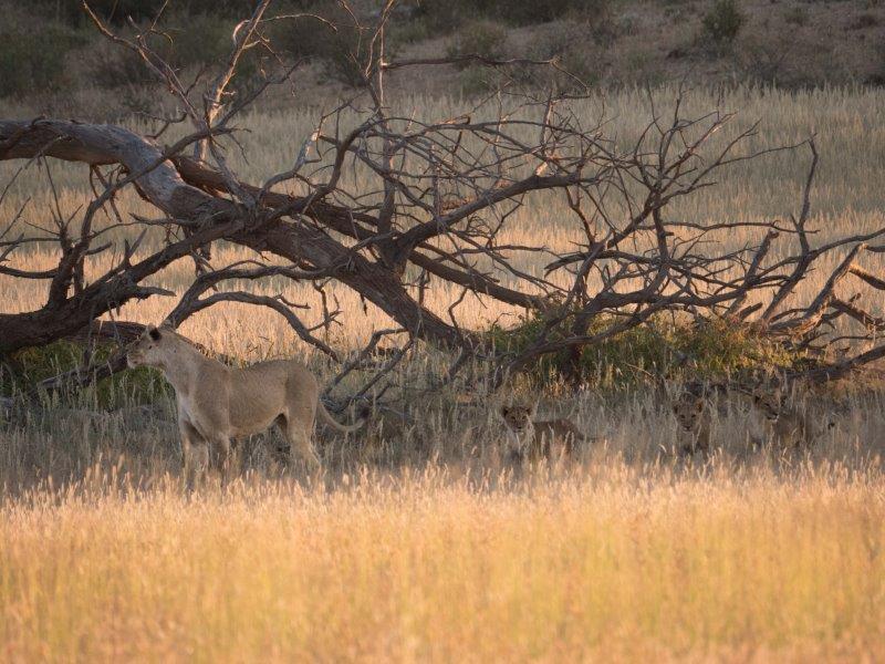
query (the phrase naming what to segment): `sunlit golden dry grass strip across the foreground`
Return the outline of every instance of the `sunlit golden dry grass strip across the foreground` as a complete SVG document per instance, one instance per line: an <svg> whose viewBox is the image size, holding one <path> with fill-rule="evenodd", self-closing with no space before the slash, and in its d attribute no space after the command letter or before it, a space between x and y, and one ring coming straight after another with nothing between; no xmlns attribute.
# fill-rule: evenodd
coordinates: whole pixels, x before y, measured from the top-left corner
<svg viewBox="0 0 885 664"><path fill-rule="evenodd" d="M876 660L881 481L612 464L517 490L430 469L186 500L95 477L3 506L0 642L50 661Z"/></svg>

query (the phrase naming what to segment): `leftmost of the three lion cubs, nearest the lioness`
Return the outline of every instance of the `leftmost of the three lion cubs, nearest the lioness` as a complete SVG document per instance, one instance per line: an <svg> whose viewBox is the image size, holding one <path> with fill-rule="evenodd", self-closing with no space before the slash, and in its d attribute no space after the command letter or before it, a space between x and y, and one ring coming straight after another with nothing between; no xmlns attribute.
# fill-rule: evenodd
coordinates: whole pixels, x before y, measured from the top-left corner
<svg viewBox="0 0 885 664"><path fill-rule="evenodd" d="M532 406L501 406L510 460L521 463L571 458L579 445L597 439L585 436L568 419L535 421L537 412L537 403Z"/></svg>

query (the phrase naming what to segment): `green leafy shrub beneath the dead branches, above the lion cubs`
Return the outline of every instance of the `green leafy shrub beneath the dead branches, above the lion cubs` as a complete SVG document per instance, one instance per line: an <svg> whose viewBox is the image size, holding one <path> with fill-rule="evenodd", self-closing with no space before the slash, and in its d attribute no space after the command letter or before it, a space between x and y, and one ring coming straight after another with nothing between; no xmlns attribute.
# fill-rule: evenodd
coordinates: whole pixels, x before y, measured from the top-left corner
<svg viewBox="0 0 885 664"><path fill-rule="evenodd" d="M603 332L613 322L597 319L587 334ZM488 339L497 350L518 354L539 339L545 325L543 318L527 318L516 328L492 326ZM564 336L562 329L554 328L546 339L556 341ZM556 382L568 373L571 362L568 351L542 355L531 367L531 377L539 384ZM585 346L580 353L579 369L587 383L613 387L646 382L650 376L676 380L690 373L691 377L715 380L799 367L808 362L810 359L804 354L746 326L722 320L674 322L662 317Z"/></svg>

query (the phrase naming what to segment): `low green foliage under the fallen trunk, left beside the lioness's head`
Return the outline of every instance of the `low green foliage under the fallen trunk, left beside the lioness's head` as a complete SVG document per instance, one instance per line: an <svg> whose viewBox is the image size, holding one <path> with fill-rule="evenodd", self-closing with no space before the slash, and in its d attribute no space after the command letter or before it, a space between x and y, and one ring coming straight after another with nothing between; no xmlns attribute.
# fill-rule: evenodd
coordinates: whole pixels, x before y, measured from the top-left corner
<svg viewBox="0 0 885 664"><path fill-rule="evenodd" d="M107 360L116 350L114 344L96 347L94 363ZM45 346L30 347L14 353L2 364L0 394L13 396L30 392L41 381L81 366L84 362L83 346L56 341ZM171 387L154 369L127 370L76 394L62 398L87 404L97 408L116 408L124 405L148 404L171 395Z"/></svg>

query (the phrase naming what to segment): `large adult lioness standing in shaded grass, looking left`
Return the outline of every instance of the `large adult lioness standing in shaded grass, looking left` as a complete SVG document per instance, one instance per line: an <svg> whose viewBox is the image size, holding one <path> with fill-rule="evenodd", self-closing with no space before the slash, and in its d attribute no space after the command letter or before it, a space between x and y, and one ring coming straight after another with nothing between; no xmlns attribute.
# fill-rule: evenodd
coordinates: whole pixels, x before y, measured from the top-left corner
<svg viewBox="0 0 885 664"><path fill-rule="evenodd" d="M310 370L293 360L259 362L243 369L226 366L206 357L194 344L170 329L148 328L126 354L131 367L155 366L175 387L178 429L185 477L189 485L209 466L211 446L222 474L229 469L230 442L277 424L310 470L320 467L313 449L316 413L340 432L352 426L335 422L320 402L320 388Z"/></svg>

